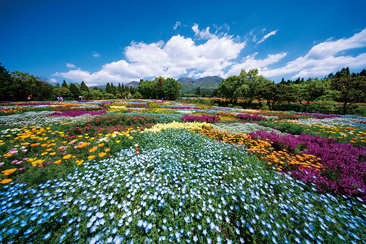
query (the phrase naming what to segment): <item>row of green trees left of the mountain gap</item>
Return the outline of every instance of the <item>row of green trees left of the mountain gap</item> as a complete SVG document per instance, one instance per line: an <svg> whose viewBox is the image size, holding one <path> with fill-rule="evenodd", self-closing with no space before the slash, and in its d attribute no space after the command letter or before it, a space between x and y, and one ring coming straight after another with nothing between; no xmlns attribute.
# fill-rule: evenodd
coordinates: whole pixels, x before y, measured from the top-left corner
<svg viewBox="0 0 366 244"><path fill-rule="evenodd" d="M144 98L175 100L180 96L181 84L173 78L156 77L153 81L140 80L138 88L124 86L118 83L106 85L105 91L94 87L90 89L81 84L58 82L53 85L46 78L30 75L19 71L9 72L0 63L0 101L27 101L29 94L33 94L37 101L56 100L61 96L64 100L78 100L82 96L84 100L120 99L120 98Z"/></svg>

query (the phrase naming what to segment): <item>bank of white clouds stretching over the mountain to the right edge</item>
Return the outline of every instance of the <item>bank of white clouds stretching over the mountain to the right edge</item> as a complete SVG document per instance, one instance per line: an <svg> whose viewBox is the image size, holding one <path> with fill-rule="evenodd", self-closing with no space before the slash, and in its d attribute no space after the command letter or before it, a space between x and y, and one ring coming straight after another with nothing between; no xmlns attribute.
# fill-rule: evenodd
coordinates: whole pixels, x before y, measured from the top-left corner
<svg viewBox="0 0 366 244"><path fill-rule="evenodd" d="M306 55L294 57L287 63L281 61L285 57L290 58L289 51L271 54L253 51L253 54L242 57L246 41L240 41L240 37L233 38L217 32L212 34L209 27L199 29L198 24L194 24L192 30L195 34L192 38L175 35L166 42L133 41L124 48L125 59L107 63L94 73L67 64L67 67L74 70L56 72L53 75L74 82L83 80L85 84L92 86L107 82L128 83L132 80L138 81L141 77L146 79L157 76L201 78L218 75L227 78L230 75L238 75L241 69L253 68L257 68L261 75L268 78L279 75L291 75L296 78L319 77L347 66L351 69L366 66L366 53L344 54L347 50L366 47L366 29L350 38L328 39L313 46ZM257 43L276 33L277 30L270 32ZM247 36L255 39L253 32ZM259 55L263 58L256 58Z"/></svg>

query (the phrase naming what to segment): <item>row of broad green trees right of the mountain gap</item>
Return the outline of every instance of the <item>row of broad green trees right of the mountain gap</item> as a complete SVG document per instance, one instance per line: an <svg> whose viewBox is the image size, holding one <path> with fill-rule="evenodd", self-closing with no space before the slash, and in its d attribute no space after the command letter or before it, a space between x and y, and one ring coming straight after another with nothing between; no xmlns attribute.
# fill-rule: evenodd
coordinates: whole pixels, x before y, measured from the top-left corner
<svg viewBox="0 0 366 244"><path fill-rule="evenodd" d="M219 84L218 95L233 104L240 99L247 107L253 100L264 100L269 110L293 102L301 105L303 112L314 102L338 102L342 103L340 112L346 114L356 103L366 102L366 70L351 74L347 67L322 79L282 79L277 84L258 75L257 69L241 70Z"/></svg>

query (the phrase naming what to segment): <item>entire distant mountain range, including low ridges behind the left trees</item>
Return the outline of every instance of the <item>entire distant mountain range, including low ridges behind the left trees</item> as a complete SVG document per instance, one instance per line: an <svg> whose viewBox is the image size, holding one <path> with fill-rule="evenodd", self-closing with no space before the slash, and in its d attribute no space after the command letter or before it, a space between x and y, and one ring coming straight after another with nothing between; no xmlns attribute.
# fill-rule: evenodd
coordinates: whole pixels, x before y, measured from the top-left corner
<svg viewBox="0 0 366 244"><path fill-rule="evenodd" d="M189 77L179 77L177 81L182 85L182 88L180 89L182 93L194 94L197 87L200 87L201 92L212 92L212 90L218 87L222 80L223 78L219 76L206 76L196 80ZM139 83L139 81L131 81L124 84L124 86L132 86L137 88ZM118 84L114 84L114 86L118 87ZM93 90L94 87L100 88L102 92L105 92L105 85L90 86L89 88Z"/></svg>

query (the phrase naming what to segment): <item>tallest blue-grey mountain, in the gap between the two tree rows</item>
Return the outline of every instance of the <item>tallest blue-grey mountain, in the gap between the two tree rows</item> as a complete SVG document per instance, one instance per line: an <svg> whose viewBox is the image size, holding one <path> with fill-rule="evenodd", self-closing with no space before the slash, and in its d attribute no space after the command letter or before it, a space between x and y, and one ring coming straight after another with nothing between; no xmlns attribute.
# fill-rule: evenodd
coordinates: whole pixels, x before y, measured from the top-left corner
<svg viewBox="0 0 366 244"><path fill-rule="evenodd" d="M206 76L197 80L188 77L180 77L177 81L182 85L182 88L180 89L182 93L194 94L197 87L200 87L202 92L212 92L212 90L218 87L222 80L223 78L219 76Z"/></svg>

